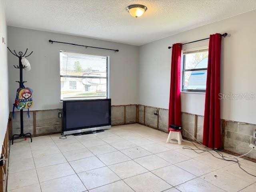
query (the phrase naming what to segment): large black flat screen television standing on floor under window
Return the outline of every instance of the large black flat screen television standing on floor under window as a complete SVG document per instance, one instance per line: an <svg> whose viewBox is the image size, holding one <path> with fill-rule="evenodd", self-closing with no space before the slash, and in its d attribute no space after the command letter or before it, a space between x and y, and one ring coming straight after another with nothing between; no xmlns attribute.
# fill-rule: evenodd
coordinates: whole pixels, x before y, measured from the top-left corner
<svg viewBox="0 0 256 192"><path fill-rule="evenodd" d="M64 100L64 134L103 130L111 127L111 99Z"/></svg>

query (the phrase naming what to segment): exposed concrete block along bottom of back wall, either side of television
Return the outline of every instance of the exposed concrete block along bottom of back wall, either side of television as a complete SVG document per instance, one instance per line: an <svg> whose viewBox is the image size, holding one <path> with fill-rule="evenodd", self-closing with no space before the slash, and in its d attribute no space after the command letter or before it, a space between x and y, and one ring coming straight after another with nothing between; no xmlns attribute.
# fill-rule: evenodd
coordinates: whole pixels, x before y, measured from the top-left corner
<svg viewBox="0 0 256 192"><path fill-rule="evenodd" d="M112 126L136 123L136 108L137 105L111 106ZM62 118L58 118L59 112L62 112L62 109L30 111L30 118L28 118L27 111L24 111L24 133L40 135L61 132ZM20 112L15 112L15 118L12 118L10 113L10 117L12 134L20 134Z"/></svg>

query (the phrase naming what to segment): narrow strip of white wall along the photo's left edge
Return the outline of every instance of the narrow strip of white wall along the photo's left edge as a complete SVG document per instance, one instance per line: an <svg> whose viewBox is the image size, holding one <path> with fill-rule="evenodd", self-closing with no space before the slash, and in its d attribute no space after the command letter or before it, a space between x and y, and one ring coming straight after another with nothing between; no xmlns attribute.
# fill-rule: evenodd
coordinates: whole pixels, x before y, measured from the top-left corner
<svg viewBox="0 0 256 192"><path fill-rule="evenodd" d="M9 118L7 44L2 43L2 37L7 41L4 1L0 0L0 144L4 142L6 126ZM0 147L0 152L1 151L2 146Z"/></svg>

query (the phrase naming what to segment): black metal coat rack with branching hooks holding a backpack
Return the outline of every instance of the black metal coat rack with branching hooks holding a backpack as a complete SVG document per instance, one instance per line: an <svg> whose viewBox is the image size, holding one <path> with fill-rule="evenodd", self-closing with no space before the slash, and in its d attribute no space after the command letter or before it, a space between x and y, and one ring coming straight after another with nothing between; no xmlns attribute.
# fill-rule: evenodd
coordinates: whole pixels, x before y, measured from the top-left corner
<svg viewBox="0 0 256 192"><path fill-rule="evenodd" d="M20 52L18 53L18 54L19 54L19 55L18 55L15 50L13 50L13 51L14 51L14 53L13 53L13 52L9 49L9 47L7 47L7 48L8 48L8 50L9 50L14 56L16 56L16 57L19 58L19 65L17 65L17 66L14 65L14 68L20 69L20 81L16 81L16 82L18 82L18 83L20 84L20 88L22 88L23 83L25 83L26 81L23 81L23 77L22 77L22 70L25 68L25 66L22 65L21 59L22 59L22 57L28 57L28 56L30 56L33 52L31 52L30 54L28 54L28 55L26 56L26 53L27 53L27 51L28 51L28 49L26 49L25 54L23 54L23 52L20 51ZM14 140L14 139L18 139L18 138L30 138L30 139L31 139L31 142L32 142L32 135L31 135L31 133L25 133L25 134L24 134L24 130L23 130L23 109L20 110L20 134L14 134L14 135L12 136L12 145L13 145L13 140Z"/></svg>

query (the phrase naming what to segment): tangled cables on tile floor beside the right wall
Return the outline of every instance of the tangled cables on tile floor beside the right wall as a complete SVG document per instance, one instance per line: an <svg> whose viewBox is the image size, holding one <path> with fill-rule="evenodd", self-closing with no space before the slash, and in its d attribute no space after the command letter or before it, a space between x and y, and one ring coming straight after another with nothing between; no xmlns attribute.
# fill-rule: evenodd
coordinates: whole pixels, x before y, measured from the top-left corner
<svg viewBox="0 0 256 192"><path fill-rule="evenodd" d="M184 129L185 130L185 129ZM185 130L186 132L188 132L187 130ZM188 132L188 134L190 134L189 132ZM190 134L200 145L202 145L202 146L204 146L202 143L200 143L192 134ZM251 149L248 153L246 153L246 154L243 154L243 155L240 155L240 156L224 156L222 153L220 153L220 152L218 152L217 150L215 150L215 149L211 149L211 148L208 148L208 147L206 147L206 146L204 146L204 147L206 147L206 148L208 148L208 149L200 149L198 146L196 146L192 141L190 141L195 147L196 147L196 149L193 149L193 148L191 148L191 147L188 147L188 146L184 146L184 147L182 147L183 149L189 149L189 150L193 150L194 152L196 152L196 153L198 153L198 154L200 154L200 153L204 153L204 152L208 152L208 153L210 153L212 156L214 156L214 154L212 154L210 151L214 151L214 152L216 152L219 156L221 156L221 158L220 157L216 157L216 156L214 156L215 158L218 158L218 159L222 159L222 160L225 160L225 161L231 161L231 162L235 162L235 163L237 163L238 164L238 166L239 166L239 168L240 169L242 169L244 172L246 172L247 174L249 174L249 175L251 175L251 176L254 176L254 177L256 177L254 174L250 174L250 173L248 173L246 170L244 170L242 167L241 167L241 165L240 165L240 163L239 163L239 161L238 161L238 157L242 157L242 156L245 156L245 155L247 155L248 153L250 153L253 149ZM254 142L255 143L255 142ZM198 150L200 151L200 152L198 152ZM225 158L234 158L234 159L236 159L236 160L230 160L230 159L225 159Z"/></svg>

